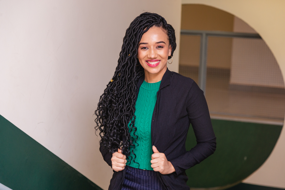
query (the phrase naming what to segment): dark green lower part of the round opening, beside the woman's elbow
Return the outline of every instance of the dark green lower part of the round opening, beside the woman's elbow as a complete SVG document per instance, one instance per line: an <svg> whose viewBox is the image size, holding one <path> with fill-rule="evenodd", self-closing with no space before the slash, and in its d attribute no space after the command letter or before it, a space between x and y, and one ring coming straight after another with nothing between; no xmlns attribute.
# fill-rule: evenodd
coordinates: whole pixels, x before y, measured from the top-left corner
<svg viewBox="0 0 285 190"><path fill-rule="evenodd" d="M217 149L209 158L186 170L190 187L225 187L245 179L268 158L282 129L278 125L214 119L212 124ZM196 138L190 127L186 150L195 145Z"/></svg>

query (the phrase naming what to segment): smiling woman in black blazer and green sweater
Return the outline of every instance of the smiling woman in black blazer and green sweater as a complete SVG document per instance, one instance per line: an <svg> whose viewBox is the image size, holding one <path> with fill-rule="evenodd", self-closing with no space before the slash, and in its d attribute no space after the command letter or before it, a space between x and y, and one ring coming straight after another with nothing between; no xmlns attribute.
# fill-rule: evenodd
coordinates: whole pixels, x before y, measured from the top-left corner
<svg viewBox="0 0 285 190"><path fill-rule="evenodd" d="M175 40L173 27L154 13L142 13L126 31L95 111L100 152L114 171L109 189L189 189L185 170L215 151L203 91L167 69ZM190 123L197 145L186 151Z"/></svg>

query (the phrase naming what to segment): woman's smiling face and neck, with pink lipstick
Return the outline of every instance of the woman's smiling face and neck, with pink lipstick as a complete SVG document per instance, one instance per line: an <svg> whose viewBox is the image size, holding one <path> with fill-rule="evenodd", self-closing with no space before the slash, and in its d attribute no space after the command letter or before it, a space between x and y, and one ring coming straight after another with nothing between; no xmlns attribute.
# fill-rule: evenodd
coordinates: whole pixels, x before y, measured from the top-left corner
<svg viewBox="0 0 285 190"><path fill-rule="evenodd" d="M139 42L138 59L144 68L144 80L148 83L161 81L171 55L168 36L162 28L153 26Z"/></svg>

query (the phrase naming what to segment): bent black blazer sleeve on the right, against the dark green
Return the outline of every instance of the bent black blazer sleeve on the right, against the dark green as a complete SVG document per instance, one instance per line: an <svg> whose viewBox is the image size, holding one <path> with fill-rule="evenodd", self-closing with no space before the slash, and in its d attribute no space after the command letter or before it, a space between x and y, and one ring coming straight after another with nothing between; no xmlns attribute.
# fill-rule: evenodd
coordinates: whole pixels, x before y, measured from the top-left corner
<svg viewBox="0 0 285 190"><path fill-rule="evenodd" d="M174 174L179 175L186 169L199 164L216 150L216 137L213 131L208 105L203 91L193 82L186 104L188 118L196 136L197 144L184 154L170 160Z"/></svg>

